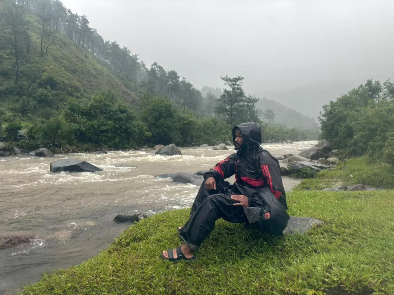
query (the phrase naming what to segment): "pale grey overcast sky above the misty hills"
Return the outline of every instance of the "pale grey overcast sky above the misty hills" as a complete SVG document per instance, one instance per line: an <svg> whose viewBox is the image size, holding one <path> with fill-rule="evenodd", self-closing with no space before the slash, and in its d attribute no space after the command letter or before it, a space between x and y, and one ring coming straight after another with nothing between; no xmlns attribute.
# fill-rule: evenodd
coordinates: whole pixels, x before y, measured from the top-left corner
<svg viewBox="0 0 394 295"><path fill-rule="evenodd" d="M148 67L318 116L367 79L394 80L394 0L61 0Z"/></svg>

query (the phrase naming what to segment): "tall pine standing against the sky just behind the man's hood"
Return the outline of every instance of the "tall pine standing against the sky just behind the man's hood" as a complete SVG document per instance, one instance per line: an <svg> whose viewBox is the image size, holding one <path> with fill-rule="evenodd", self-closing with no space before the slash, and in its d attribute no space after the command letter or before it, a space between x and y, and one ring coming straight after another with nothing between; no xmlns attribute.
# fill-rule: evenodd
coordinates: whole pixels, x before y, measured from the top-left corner
<svg viewBox="0 0 394 295"><path fill-rule="evenodd" d="M245 92L242 89L243 77L220 77L224 85L227 85L229 89L224 89L223 94L217 100L217 112L224 114L228 118L228 122L232 126L234 124L234 112L235 108L242 103L245 99Z"/></svg>

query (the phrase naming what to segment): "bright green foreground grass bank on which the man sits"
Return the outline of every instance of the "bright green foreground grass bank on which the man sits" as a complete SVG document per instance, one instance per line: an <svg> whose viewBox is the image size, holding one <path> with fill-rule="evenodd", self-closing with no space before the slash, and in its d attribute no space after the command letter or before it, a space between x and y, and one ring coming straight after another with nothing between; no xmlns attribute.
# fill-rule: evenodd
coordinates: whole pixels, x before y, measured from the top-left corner
<svg viewBox="0 0 394 295"><path fill-rule="evenodd" d="M23 294L394 294L394 192L292 192L289 213L322 219L274 237L217 221L198 260L172 264L188 210L129 227L99 255L43 275Z"/></svg>

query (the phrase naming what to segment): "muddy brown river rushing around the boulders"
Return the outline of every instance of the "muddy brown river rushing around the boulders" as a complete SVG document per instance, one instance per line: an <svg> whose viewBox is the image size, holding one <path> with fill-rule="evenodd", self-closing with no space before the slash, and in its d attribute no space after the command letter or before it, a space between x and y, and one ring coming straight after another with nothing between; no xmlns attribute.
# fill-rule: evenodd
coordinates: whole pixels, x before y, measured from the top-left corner
<svg viewBox="0 0 394 295"><path fill-rule="evenodd" d="M267 144L264 148L273 155L297 154L314 144ZM86 160L104 170L99 173L50 173L54 158L0 158L0 234L37 236L31 243L0 250L0 294L15 294L39 280L41 273L80 264L106 249L128 227L113 222L117 214L152 215L190 207L197 186L154 176L208 170L234 153L229 148L183 148L182 156L173 157L156 156L151 150L55 155L55 159ZM283 183L289 191L299 180L284 177Z"/></svg>

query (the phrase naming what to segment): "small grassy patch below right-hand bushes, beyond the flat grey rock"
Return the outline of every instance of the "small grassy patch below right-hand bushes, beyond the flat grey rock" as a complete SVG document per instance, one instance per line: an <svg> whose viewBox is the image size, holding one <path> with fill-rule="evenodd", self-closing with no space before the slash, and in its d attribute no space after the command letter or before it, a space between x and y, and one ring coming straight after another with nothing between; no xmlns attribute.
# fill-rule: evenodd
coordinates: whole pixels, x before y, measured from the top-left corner
<svg viewBox="0 0 394 295"><path fill-rule="evenodd" d="M312 179L304 179L294 190L322 190L323 188L366 184L376 188L394 188L394 167L374 162L366 156L349 159L335 170L319 172Z"/></svg>

